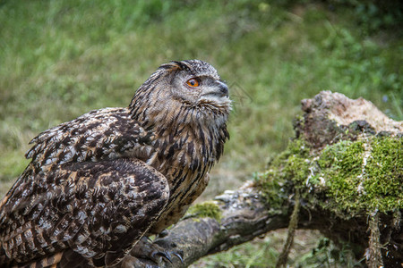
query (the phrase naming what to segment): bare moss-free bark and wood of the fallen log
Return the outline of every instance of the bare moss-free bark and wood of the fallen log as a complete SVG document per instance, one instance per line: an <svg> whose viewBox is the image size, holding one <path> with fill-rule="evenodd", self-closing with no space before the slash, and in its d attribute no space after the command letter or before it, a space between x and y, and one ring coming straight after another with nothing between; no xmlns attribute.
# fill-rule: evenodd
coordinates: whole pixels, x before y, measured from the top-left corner
<svg viewBox="0 0 403 268"><path fill-rule="evenodd" d="M339 93L323 91L313 99L303 100L302 109L304 118L296 121L296 138L304 137L312 151L320 151L339 140L356 140L360 135L401 138L403 132L402 121L391 120L362 98L351 100ZM294 199L295 191L290 188L283 193L284 202L279 208L263 198L253 182L234 191L227 190L213 201L219 207L220 220L188 216L154 240L183 257L183 262L173 257L172 264L162 262L159 266L187 267L202 256L227 250L270 230L287 228ZM393 214L375 212L369 219L367 214L347 218L312 202L304 205L301 200L301 203L297 228L320 230L336 243L347 241L354 246L356 258L365 255L366 264L371 267L383 263L385 267L400 267L403 263L401 206ZM380 246L380 243L386 244Z"/></svg>

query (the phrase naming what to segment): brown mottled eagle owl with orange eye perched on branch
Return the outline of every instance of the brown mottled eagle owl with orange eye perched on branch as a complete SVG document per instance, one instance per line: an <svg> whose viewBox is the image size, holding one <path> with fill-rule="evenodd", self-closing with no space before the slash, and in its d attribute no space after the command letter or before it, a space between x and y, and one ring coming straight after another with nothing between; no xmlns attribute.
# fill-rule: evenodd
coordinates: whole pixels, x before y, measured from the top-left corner
<svg viewBox="0 0 403 268"><path fill-rule="evenodd" d="M31 140L30 164L0 203L0 267L107 267L177 222L209 181L231 102L200 60L161 65L126 108Z"/></svg>

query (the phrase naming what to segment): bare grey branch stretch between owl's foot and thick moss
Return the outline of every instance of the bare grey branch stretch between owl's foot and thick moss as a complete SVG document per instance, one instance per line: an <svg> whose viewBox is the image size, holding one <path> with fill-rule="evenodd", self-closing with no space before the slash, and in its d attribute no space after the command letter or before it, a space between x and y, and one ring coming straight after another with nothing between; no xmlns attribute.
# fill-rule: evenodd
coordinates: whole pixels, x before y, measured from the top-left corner
<svg viewBox="0 0 403 268"><path fill-rule="evenodd" d="M190 217L168 230L164 238L155 240L184 258L183 264L175 259L172 265L164 263L162 267L187 267L204 255L225 251L288 225L288 212L270 211L254 188L226 191L215 201L222 214L220 221Z"/></svg>

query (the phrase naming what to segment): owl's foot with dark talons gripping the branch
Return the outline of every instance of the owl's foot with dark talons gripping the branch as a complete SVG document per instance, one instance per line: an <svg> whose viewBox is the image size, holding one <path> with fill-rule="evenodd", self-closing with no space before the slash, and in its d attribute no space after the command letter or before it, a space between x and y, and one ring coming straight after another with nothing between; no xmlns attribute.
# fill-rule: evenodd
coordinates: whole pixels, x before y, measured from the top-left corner
<svg viewBox="0 0 403 268"><path fill-rule="evenodd" d="M130 253L124 258L122 263L122 268L128 267L147 267L154 268L159 267L162 262L168 262L172 264L172 258L177 257L181 263L183 263L182 255L167 251L165 248L160 247L158 244L152 243L152 241L146 237L143 237L137 244L132 248ZM124 263L126 263L124 266Z"/></svg>

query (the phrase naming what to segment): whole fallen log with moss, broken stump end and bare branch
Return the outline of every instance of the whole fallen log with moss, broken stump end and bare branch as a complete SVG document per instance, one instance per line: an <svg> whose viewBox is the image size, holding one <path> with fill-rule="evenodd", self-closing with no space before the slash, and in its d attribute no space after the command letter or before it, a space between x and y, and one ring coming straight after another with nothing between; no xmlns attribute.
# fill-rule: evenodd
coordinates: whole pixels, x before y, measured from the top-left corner
<svg viewBox="0 0 403 268"><path fill-rule="evenodd" d="M366 256L370 267L403 263L403 122L390 120L364 99L329 91L304 100L303 110L296 139L266 172L243 188L193 206L155 239L183 256L183 262L174 258L160 267L186 267L287 226L279 266L287 263L296 228L320 230L336 244L348 243L356 260Z"/></svg>

